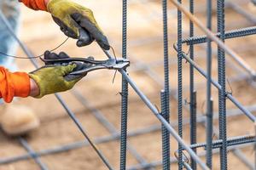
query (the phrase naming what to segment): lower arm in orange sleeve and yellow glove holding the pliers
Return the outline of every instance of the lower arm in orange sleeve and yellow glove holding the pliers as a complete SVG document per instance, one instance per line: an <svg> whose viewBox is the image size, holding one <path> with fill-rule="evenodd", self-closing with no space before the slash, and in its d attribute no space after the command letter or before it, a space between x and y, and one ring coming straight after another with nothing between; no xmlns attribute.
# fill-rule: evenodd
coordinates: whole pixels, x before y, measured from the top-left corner
<svg viewBox="0 0 256 170"><path fill-rule="evenodd" d="M48 52L47 55L51 54ZM57 54L54 54L54 56L59 58ZM67 54L65 54L65 57L68 57ZM76 69L79 69L76 64L46 65L27 74L26 72L11 73L0 67L0 98L9 103L15 96L42 98L47 94L67 91L85 76L69 75L70 72Z"/></svg>

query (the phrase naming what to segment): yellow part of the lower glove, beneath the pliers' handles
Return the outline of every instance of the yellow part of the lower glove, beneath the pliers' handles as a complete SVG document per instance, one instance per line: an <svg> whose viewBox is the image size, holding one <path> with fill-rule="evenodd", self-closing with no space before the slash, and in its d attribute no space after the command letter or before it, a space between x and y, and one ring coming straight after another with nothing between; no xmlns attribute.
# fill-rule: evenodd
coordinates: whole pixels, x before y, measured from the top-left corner
<svg viewBox="0 0 256 170"><path fill-rule="evenodd" d="M42 98L46 94L55 94L67 91L75 85L82 77L68 75L77 65L46 65L29 74L38 84L39 95L35 98Z"/></svg>

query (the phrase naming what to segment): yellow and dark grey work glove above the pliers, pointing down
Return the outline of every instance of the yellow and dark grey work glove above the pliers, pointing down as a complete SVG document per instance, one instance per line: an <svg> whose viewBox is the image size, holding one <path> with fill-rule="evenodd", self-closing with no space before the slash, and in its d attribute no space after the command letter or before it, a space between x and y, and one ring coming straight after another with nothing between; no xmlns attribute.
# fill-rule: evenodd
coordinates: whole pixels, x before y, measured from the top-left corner
<svg viewBox="0 0 256 170"><path fill-rule="evenodd" d="M79 39L77 46L89 45L96 40L103 49L110 48L108 39L97 25L90 8L71 0L49 0L47 9L67 37Z"/></svg>

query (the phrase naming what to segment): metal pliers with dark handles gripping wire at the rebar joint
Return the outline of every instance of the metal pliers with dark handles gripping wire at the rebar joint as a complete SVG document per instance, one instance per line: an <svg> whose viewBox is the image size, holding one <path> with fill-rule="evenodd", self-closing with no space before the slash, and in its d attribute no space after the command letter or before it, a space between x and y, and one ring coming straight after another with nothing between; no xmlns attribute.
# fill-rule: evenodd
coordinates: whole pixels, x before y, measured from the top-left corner
<svg viewBox="0 0 256 170"><path fill-rule="evenodd" d="M47 65L67 65L71 63L79 62L80 64L90 65L85 66L84 69L79 71L73 71L71 75L86 74L90 71L96 71L100 69L108 70L120 70L125 69L130 65L129 59L107 59L107 60L95 60L95 59L84 59L84 58L67 58L67 59L42 59Z"/></svg>

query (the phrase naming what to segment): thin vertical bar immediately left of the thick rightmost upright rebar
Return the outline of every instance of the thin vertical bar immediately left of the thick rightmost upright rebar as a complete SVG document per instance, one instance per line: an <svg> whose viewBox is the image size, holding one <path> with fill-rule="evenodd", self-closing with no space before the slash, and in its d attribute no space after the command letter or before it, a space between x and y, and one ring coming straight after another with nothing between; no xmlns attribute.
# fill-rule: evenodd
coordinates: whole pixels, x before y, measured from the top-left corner
<svg viewBox="0 0 256 170"><path fill-rule="evenodd" d="M207 0L207 28L212 31L212 0ZM212 42L207 38L207 166L212 168Z"/></svg>

